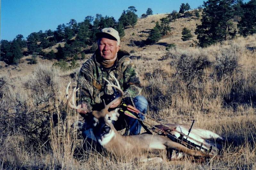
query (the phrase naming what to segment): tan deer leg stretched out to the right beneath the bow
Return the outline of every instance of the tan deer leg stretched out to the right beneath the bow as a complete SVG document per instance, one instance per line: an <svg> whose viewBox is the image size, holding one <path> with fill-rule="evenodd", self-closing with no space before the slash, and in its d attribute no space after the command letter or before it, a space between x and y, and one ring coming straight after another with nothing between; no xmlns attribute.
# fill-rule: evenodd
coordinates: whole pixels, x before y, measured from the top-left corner
<svg viewBox="0 0 256 170"><path fill-rule="evenodd" d="M180 152L184 152L185 154L189 154L191 156L202 156L202 157L208 157L210 155L208 154L204 154L204 153L201 153L199 151L196 151L196 150L192 150L192 149L188 149L186 146L183 146L182 144L179 144L177 142L173 142L171 140L167 140L164 145L167 147L167 148L171 148L171 149L175 149L175 150L178 150Z"/></svg>

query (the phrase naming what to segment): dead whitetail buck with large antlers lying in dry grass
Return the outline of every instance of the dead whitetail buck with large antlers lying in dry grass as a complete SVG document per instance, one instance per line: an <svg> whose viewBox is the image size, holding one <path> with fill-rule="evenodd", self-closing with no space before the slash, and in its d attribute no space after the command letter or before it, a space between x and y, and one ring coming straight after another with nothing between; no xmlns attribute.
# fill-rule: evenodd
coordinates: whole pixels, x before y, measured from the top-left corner
<svg viewBox="0 0 256 170"><path fill-rule="evenodd" d="M115 79L115 78L114 78ZM107 80L106 80L107 81ZM115 79L117 85L109 86L118 89L123 95L123 91L118 84L118 81ZM70 85L70 84L69 84ZM68 89L67 87L67 98ZM81 109L75 104L75 93L78 89L74 89L72 93L72 101L69 101L69 106L74 109ZM118 97L119 98L119 97ZM161 150L165 149L173 149L178 152L184 152L185 154L191 156L201 156L208 157L211 156L209 154L205 154L196 150L189 149L182 144L174 142L170 140L168 137L161 135L151 135L151 134L140 134L140 135L131 135L131 136L122 136L117 130L114 128L111 123L112 120L117 120L119 113L118 109L115 109L111 112L108 111L112 103L116 100L111 101L108 105L105 105L104 109L101 111L92 111L87 108L83 108L87 113L91 113L92 120L86 121L77 121L73 123L72 127L79 130L86 130L89 128L93 128L94 135L99 142L107 151L113 153L118 158L131 158L138 159L139 161L150 161L154 160L156 162L161 161L162 159L159 156ZM72 102L72 103L71 103ZM188 125L175 125L169 124L172 128L180 129L180 131L188 131ZM205 134L206 133L206 134ZM209 130L192 128L191 134L193 137L196 137L197 141L204 142L205 138L221 138L219 135L211 132ZM199 135L196 135L199 134ZM203 135L202 135L203 134ZM175 135L175 133L174 133ZM148 158L149 155L154 155L153 158Z"/></svg>

